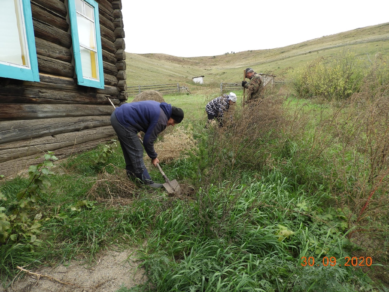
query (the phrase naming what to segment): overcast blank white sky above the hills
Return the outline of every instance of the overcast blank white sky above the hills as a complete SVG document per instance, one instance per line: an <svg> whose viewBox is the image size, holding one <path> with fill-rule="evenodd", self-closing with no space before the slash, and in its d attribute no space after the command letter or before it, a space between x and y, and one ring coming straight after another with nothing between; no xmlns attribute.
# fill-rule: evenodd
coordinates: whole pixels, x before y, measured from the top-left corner
<svg viewBox="0 0 389 292"><path fill-rule="evenodd" d="M122 5L126 52L180 57L273 49L389 22L389 0L122 0Z"/></svg>

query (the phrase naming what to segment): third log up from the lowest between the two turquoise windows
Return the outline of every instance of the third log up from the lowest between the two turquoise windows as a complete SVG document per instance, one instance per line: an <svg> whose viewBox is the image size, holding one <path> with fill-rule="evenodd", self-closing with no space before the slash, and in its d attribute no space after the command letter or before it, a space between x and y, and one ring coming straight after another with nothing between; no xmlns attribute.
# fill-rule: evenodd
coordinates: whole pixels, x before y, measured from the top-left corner
<svg viewBox="0 0 389 292"><path fill-rule="evenodd" d="M39 37L40 39L47 40L66 48L70 48L72 45L72 37L67 31L65 32L54 26L41 23L38 20L33 21L33 26L35 37ZM114 41L115 40L113 40L113 42Z"/></svg>

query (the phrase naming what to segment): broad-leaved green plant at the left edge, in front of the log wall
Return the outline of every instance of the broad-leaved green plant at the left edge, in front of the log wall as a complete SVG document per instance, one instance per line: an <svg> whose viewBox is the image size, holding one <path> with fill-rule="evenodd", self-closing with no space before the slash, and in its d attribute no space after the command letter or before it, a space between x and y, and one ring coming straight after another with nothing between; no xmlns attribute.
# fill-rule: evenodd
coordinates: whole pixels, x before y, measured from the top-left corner
<svg viewBox="0 0 389 292"><path fill-rule="evenodd" d="M0 192L0 245L20 239L37 242L42 219L42 213L38 212L40 195L46 193L46 186L50 185L53 160L58 160L51 151L44 158L42 163L28 168L28 186L19 190L15 201L8 201Z"/></svg>

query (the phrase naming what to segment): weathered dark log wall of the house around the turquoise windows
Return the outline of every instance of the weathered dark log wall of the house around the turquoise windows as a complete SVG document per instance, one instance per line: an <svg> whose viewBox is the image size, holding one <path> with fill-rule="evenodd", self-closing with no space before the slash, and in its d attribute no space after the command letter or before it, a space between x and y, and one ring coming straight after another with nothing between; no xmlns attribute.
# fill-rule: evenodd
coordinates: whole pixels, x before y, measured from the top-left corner
<svg viewBox="0 0 389 292"><path fill-rule="evenodd" d="M0 77L0 175L89 150L115 137L114 110L127 99L121 0L98 3L104 89L77 84L68 0L31 0L40 82Z"/></svg>

